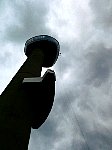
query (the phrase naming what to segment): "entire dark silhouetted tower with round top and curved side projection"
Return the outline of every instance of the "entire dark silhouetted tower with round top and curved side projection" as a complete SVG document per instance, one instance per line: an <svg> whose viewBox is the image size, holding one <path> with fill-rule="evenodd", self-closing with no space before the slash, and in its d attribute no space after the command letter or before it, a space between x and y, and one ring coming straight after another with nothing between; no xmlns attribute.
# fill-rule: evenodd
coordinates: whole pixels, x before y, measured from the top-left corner
<svg viewBox="0 0 112 150"><path fill-rule="evenodd" d="M31 127L38 129L47 119L55 96L55 72L51 67L59 55L59 42L48 35L25 43L26 61L0 95L0 150L27 150Z"/></svg>

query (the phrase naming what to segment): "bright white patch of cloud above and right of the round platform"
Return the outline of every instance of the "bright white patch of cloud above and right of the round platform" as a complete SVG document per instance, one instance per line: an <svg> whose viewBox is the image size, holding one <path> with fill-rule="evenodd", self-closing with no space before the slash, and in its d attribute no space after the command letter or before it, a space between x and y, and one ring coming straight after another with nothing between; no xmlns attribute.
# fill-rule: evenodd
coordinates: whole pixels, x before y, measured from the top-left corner
<svg viewBox="0 0 112 150"><path fill-rule="evenodd" d="M91 21L88 1L53 1L50 4L48 27L56 33L60 40L66 42L79 39L84 24Z"/></svg>

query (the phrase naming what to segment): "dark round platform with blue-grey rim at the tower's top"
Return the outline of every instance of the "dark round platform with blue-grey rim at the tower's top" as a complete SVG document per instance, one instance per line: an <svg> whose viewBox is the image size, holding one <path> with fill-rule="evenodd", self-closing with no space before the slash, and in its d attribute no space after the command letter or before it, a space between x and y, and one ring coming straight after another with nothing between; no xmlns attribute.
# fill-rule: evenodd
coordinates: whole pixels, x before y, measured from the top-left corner
<svg viewBox="0 0 112 150"><path fill-rule="evenodd" d="M42 67L52 67L58 59L60 45L59 42L48 35L39 35L28 39L25 43L24 52L29 57L34 48L42 49L44 52L44 62Z"/></svg>

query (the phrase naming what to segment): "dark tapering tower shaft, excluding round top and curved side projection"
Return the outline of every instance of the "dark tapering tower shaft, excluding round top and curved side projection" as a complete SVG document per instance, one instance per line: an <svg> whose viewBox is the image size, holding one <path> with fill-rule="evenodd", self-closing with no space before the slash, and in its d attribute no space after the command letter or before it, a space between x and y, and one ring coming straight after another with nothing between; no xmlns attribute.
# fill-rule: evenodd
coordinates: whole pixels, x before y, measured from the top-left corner
<svg viewBox="0 0 112 150"><path fill-rule="evenodd" d="M1 150L28 149L31 112L22 81L28 77L40 77L43 60L43 51L35 48L0 96Z"/></svg>

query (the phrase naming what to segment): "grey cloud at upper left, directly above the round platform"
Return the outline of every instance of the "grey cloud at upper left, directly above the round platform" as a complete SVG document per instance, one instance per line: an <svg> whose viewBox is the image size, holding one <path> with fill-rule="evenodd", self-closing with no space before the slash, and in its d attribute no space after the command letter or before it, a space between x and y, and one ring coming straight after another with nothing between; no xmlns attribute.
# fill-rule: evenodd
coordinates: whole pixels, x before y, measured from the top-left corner
<svg viewBox="0 0 112 150"><path fill-rule="evenodd" d="M12 42L24 42L39 34L48 33L46 27L48 4L45 1L11 1L12 21L7 25L5 38Z"/></svg>

